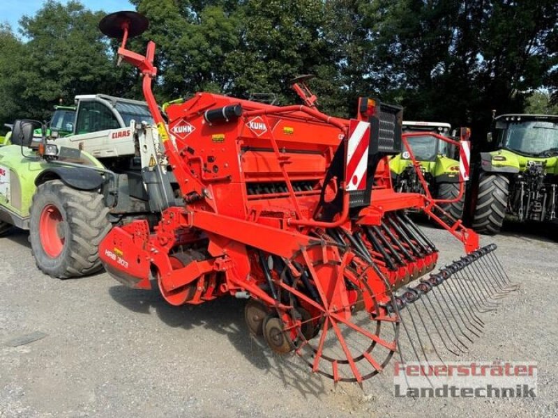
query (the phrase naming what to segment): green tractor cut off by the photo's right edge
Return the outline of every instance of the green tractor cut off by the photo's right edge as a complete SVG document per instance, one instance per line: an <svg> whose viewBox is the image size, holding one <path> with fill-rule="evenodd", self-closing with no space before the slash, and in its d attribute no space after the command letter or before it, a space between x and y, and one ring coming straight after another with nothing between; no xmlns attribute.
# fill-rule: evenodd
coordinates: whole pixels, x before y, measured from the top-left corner
<svg viewBox="0 0 558 418"><path fill-rule="evenodd" d="M480 233L504 219L557 224L558 116L503 114L473 164L469 213Z"/></svg>

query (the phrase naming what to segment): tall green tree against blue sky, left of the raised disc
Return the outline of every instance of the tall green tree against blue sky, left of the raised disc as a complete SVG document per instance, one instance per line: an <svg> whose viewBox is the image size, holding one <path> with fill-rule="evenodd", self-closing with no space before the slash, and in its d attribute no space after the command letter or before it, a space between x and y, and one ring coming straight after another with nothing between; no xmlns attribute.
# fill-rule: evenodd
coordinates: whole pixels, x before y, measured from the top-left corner
<svg viewBox="0 0 558 418"><path fill-rule="evenodd" d="M78 1L66 5L48 0L34 16L20 21L29 61L18 69L24 86L19 95L29 116L47 118L59 100L77 94L116 93L121 72L110 58L109 42L98 30L103 12L91 12Z"/></svg>

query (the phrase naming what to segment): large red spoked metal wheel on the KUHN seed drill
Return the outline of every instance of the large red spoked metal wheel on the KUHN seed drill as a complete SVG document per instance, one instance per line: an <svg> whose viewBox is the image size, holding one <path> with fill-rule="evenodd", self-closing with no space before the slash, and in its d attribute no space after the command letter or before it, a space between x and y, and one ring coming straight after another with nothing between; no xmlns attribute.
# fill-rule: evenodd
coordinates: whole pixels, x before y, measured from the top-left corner
<svg viewBox="0 0 558 418"><path fill-rule="evenodd" d="M349 247L312 245L287 261L280 281L280 300L291 307L279 313L285 336L312 371L335 382L375 376L397 349L398 318L381 306L391 289L355 259Z"/></svg>

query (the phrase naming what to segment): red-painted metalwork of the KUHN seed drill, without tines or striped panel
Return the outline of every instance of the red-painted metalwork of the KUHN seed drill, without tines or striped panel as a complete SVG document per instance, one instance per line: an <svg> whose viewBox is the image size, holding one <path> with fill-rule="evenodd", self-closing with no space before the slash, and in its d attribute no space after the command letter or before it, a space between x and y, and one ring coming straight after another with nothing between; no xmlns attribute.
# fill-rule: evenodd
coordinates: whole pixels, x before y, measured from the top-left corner
<svg viewBox="0 0 558 418"><path fill-rule="evenodd" d="M100 244L107 271L135 288L151 288L157 277L171 304L249 295L273 307L282 331L299 341L297 353L312 344L295 313L306 309L310 319L304 322L322 330L308 361L312 370L358 382L380 371L396 349L395 341L379 334L380 323L398 322L385 304L393 289L426 274L437 261L437 250L407 229L398 213L424 210L462 240L467 251L478 247L478 237L460 222L448 226L435 217L432 208L439 202L429 194L394 192L386 157L376 170L375 185L369 186L370 206L350 210L340 178L340 187L329 191L340 196L338 210L333 218L320 218L325 178L337 150L346 153L346 147L339 147L347 141L349 121L315 109L313 95L308 106L276 107L197 93L167 108L167 127L151 91L157 74L155 44L149 42L145 56L130 52L126 26L123 32L118 54L142 72L144 96L185 204L163 210L153 229L141 219L112 229ZM309 94L302 93L304 98ZM243 114L220 123L204 116L229 106L240 106ZM416 167L414 155L412 160ZM270 260L284 268L269 268ZM279 297L280 292L288 297ZM375 330L352 322L359 303L377 324ZM354 357L340 325L370 339L371 348ZM322 355L328 333L336 336L346 358ZM383 362L372 355L376 344L388 350ZM359 369L361 361L372 366L370 373ZM352 377L343 377L344 367Z"/></svg>

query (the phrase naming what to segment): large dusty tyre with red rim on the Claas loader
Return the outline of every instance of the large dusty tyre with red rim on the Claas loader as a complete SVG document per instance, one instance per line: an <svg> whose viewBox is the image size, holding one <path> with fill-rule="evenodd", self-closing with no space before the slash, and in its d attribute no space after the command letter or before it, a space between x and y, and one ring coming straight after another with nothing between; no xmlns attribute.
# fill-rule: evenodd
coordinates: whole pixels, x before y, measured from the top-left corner
<svg viewBox="0 0 558 418"><path fill-rule="evenodd" d="M73 189L60 180L39 185L33 195L29 231L37 267L60 279L100 270L98 246L111 228L108 212L103 195L97 192Z"/></svg>

